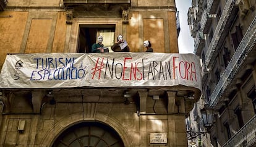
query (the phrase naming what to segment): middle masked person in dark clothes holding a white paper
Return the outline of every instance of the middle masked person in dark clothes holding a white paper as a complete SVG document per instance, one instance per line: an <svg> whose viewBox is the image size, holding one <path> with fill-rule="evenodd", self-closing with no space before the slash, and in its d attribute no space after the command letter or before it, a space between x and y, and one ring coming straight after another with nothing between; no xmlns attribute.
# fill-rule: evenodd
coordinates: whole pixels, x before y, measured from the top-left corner
<svg viewBox="0 0 256 147"><path fill-rule="evenodd" d="M128 43L127 43L126 40L123 40L123 36L122 35L118 35L117 43L114 43L114 45L111 46L111 49L114 52L129 52L130 51Z"/></svg>

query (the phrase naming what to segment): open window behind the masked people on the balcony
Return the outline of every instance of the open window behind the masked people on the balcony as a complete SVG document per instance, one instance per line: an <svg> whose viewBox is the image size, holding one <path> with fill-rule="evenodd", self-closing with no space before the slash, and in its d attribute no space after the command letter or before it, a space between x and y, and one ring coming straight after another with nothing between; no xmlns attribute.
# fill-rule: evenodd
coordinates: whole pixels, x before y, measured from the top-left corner
<svg viewBox="0 0 256 147"><path fill-rule="evenodd" d="M111 52L115 38L115 25L81 25L77 52L92 52L92 45L98 42L97 38L100 35L103 36L104 46Z"/></svg>

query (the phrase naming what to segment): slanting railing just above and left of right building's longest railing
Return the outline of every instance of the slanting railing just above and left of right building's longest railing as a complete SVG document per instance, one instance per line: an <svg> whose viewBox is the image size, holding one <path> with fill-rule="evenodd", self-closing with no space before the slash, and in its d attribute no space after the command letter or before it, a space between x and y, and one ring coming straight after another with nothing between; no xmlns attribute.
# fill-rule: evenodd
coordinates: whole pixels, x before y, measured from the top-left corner
<svg viewBox="0 0 256 147"><path fill-rule="evenodd" d="M236 1L239 1L239 0L236 0ZM213 57L217 44L220 41L221 35L223 34L223 30L226 27L229 17L231 16L231 12L236 4L236 1L228 0L226 2L226 5L223 10L223 14L220 17L215 33L213 35L213 39L211 40L210 46L208 47L207 54L205 56L206 57L205 64L207 65L207 67L209 66L209 64L213 64L213 61L211 61L211 59Z"/></svg>

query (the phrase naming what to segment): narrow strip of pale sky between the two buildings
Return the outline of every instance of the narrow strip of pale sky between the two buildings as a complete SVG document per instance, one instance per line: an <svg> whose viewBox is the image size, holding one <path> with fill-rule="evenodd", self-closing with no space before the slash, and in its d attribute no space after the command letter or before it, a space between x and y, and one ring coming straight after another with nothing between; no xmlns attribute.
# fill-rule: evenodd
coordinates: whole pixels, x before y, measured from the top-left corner
<svg viewBox="0 0 256 147"><path fill-rule="evenodd" d="M179 21L181 31L179 33L178 44L179 53L193 53L194 40L190 36L189 25L187 25L187 11L191 7L192 0L176 0L177 11L179 11Z"/></svg>

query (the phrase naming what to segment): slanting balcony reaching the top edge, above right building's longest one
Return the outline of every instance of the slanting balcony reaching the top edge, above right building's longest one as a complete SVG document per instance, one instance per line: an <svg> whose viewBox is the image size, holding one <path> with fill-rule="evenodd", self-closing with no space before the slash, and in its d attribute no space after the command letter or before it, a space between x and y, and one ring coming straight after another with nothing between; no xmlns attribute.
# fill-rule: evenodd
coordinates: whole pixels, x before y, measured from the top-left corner
<svg viewBox="0 0 256 147"><path fill-rule="evenodd" d="M213 39L211 40L207 54L205 55L205 63L208 68L212 67L213 63L215 62L215 57L217 56L215 52L218 52L218 49L221 48L221 44L223 44L224 38L226 35L228 35L227 30L229 30L228 28L232 25L233 19L236 16L235 14L238 11L237 1L239 0L228 0L226 2L223 13L213 35Z"/></svg>

